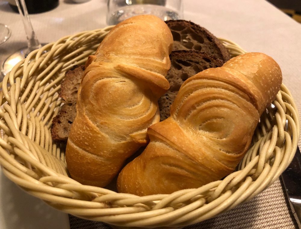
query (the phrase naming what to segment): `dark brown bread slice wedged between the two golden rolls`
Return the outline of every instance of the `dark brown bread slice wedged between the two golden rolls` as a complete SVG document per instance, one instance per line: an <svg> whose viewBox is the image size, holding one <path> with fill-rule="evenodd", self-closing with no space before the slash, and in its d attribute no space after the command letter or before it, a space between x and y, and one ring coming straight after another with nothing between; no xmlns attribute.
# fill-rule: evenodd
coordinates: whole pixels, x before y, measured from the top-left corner
<svg viewBox="0 0 301 229"><path fill-rule="evenodd" d="M182 83L191 76L207 69L221 67L223 61L200 51L172 51L169 55L171 67L166 79L170 83L169 90L159 99L160 121L170 115L170 105L178 94Z"/></svg>

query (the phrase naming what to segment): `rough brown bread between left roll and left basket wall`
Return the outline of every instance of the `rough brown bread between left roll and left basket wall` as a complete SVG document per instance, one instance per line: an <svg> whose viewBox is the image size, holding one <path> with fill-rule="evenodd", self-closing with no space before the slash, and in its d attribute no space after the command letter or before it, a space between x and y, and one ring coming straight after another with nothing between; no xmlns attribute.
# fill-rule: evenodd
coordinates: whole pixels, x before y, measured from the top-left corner
<svg viewBox="0 0 301 229"><path fill-rule="evenodd" d="M79 84L82 80L85 66L74 66L65 73L65 78L61 83L59 96L63 98L65 104L60 112L52 120L51 137L53 140L67 141L69 132L76 116L76 100Z"/></svg>

